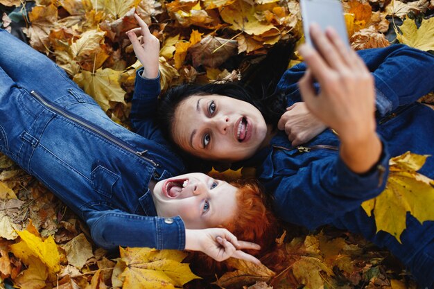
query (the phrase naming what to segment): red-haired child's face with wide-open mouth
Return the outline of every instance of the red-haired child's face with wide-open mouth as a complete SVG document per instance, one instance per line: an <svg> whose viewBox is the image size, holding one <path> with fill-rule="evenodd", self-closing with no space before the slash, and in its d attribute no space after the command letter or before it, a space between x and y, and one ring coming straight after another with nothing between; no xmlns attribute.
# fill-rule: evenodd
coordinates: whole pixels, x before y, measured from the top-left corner
<svg viewBox="0 0 434 289"><path fill-rule="evenodd" d="M234 218L237 191L227 182L189 173L157 182L153 200L158 216L180 216L186 228L204 229Z"/></svg>

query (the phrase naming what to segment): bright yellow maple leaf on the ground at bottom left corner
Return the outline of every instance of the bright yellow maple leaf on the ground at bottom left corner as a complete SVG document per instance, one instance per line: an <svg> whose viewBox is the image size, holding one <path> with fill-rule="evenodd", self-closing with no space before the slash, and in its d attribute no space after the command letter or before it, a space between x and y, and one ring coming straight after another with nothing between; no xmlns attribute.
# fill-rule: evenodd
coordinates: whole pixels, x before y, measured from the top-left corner
<svg viewBox="0 0 434 289"><path fill-rule="evenodd" d="M42 238L27 230L17 231L17 234L21 237L21 241L10 245L10 249L15 256L26 264L32 262L32 257L37 257L47 266L50 273L60 270L58 247L55 245L52 236L42 240Z"/></svg>

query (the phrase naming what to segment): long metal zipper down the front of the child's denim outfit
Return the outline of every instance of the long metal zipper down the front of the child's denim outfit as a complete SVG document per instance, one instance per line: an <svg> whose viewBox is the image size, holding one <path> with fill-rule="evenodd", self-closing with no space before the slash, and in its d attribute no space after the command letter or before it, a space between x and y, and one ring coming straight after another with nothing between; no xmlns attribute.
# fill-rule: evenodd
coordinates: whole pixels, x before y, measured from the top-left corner
<svg viewBox="0 0 434 289"><path fill-rule="evenodd" d="M91 125L90 123L87 123L85 121L82 121L81 119L77 119L76 117L74 117L72 114L70 114L69 112L65 112L64 110L55 107L55 105L52 105L51 103L47 102L42 96L40 96L39 94L37 94L36 91L32 90L30 91L31 95L33 97L35 97L40 103L42 103L42 105L44 105L45 107L48 107L49 110L60 114L61 116L63 116L66 119L69 119L70 121L73 121L74 123L77 123L78 125L83 126L84 128L87 128L87 130L90 130L96 134L98 134L99 136L103 137L104 139L106 139L107 141L110 141L111 143L116 144L116 146L119 146L121 148L123 148L124 150L127 150L128 152L133 153L134 155L137 155L139 157L142 157L143 159L146 159L146 161L149 161L151 164L153 164L154 166L159 166L159 164L157 164L155 161L153 161L152 159L148 159L147 157L144 157L144 154L148 151L148 150L144 150L142 152L139 152L137 150L134 150L134 148L132 148L131 146L128 146L128 144L123 143L122 141L120 141L119 139L116 139L114 137L112 137L110 134L108 134L107 132L104 132L104 130L99 130L98 128L96 128L94 125Z"/></svg>

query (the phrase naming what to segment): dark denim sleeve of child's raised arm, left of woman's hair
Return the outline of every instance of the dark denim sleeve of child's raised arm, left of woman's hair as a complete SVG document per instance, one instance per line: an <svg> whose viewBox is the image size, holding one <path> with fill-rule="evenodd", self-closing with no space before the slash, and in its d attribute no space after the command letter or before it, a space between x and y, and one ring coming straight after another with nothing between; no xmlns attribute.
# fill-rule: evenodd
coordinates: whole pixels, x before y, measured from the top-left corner
<svg viewBox="0 0 434 289"><path fill-rule="evenodd" d="M147 134L148 130L153 130L155 126L153 119L157 112L157 98L161 88L159 73L157 78L148 79L141 76L143 70L142 67L136 71L130 119L134 131L141 128L141 134ZM144 135L144 137L149 137L149 135Z"/></svg>

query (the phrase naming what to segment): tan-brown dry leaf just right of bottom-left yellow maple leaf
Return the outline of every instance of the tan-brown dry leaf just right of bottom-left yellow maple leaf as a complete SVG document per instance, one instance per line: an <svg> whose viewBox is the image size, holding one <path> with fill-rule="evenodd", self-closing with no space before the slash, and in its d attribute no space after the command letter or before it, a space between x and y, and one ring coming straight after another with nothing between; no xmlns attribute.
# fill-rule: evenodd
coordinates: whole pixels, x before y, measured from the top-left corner
<svg viewBox="0 0 434 289"><path fill-rule="evenodd" d="M94 256L92 245L90 245L83 233L70 240L62 248L67 253L68 263L78 269L83 268L87 259Z"/></svg>

